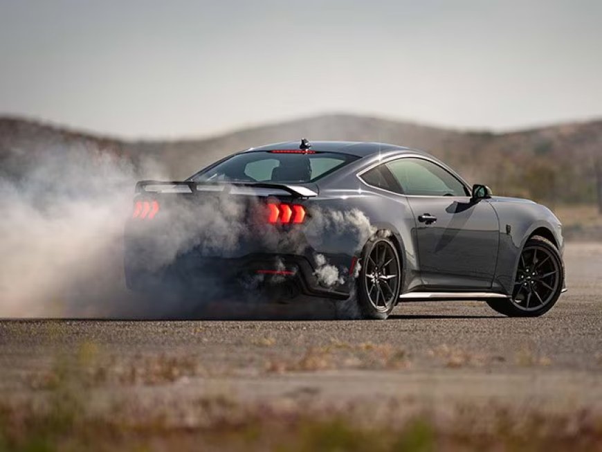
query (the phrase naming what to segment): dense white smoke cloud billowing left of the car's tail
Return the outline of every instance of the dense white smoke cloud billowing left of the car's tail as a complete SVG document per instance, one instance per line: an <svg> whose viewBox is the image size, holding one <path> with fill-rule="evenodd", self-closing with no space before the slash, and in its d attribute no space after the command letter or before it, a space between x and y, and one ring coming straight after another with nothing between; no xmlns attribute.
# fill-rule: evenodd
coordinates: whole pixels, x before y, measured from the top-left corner
<svg viewBox="0 0 602 452"><path fill-rule="evenodd" d="M114 154L50 147L0 177L0 315L102 315L128 298L116 282L136 176Z"/></svg>

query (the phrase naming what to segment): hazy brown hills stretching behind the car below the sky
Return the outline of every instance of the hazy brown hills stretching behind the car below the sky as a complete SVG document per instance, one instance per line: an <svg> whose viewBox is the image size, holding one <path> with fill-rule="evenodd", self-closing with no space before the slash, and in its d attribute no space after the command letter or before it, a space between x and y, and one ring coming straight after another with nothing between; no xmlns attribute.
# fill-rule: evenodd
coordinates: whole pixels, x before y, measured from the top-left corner
<svg viewBox="0 0 602 452"><path fill-rule="evenodd" d="M192 172L247 147L300 139L379 141L416 147L443 159L495 193L549 203L593 203L602 190L602 120L494 134L395 120L332 114L181 141L123 141L21 118L0 118L0 175L19 178L49 152L71 159L86 152L165 165L170 177ZM596 179L596 168L600 177ZM140 170L141 177L152 177ZM596 182L601 184L596 188Z"/></svg>

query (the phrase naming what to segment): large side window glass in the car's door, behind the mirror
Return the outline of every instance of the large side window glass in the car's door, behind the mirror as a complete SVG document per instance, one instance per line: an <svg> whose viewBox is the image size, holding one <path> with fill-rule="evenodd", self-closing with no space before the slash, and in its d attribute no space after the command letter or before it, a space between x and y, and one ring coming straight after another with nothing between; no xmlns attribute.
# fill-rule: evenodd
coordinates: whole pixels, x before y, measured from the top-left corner
<svg viewBox="0 0 602 452"><path fill-rule="evenodd" d="M405 158L385 165L405 195L468 196L462 182L428 160Z"/></svg>

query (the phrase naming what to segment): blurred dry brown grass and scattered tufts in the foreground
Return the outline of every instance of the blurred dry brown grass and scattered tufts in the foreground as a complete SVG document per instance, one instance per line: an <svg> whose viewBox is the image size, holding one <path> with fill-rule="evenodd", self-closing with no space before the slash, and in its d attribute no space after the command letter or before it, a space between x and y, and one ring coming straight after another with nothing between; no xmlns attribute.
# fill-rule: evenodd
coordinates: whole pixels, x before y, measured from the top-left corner
<svg viewBox="0 0 602 452"><path fill-rule="evenodd" d="M540 357L525 350L525 362L540 363ZM475 361L472 354L447 346L433 354L450 367ZM395 368L407 364L405 355L387 344L331 341L287 361L284 371L337 365ZM57 359L52 383L36 391L37 397L0 401L0 451L602 451L602 416L587 410L553 415L491 403L446 406L444 415L437 415L412 411L403 403L385 403L384 411L370 401L318 403L319 395L316 403L244 402L219 390L178 406L122 399L99 410L90 394L94 384L107 383L106 376L95 377L101 361L98 347L84 343L72 361ZM196 361L191 362L168 357L149 361L143 374L153 377L141 378L173 381L196 372ZM138 380L125 378L131 381Z"/></svg>

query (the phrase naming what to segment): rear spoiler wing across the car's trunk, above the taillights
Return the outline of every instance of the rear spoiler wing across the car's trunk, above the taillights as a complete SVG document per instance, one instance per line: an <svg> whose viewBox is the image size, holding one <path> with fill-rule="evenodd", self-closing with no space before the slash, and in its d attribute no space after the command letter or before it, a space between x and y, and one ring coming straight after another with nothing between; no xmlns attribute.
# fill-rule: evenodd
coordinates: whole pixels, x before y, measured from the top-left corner
<svg viewBox="0 0 602 452"><path fill-rule="evenodd" d="M193 181L138 181L136 193L195 193L226 192L231 195L292 195L293 197L310 198L318 196L318 192L305 186L284 183L199 183Z"/></svg>

